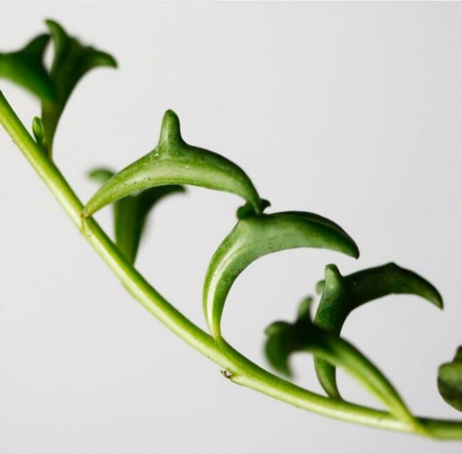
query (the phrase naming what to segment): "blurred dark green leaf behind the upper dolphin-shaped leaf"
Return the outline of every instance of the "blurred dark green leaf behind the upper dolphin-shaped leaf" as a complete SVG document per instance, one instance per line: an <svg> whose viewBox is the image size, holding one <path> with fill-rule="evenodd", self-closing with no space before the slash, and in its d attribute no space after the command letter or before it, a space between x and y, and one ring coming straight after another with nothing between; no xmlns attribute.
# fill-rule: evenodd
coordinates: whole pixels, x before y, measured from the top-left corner
<svg viewBox="0 0 462 454"><path fill-rule="evenodd" d="M95 169L90 172L90 177L101 183L104 183L113 175L114 172L105 168ZM114 203L115 241L128 262L131 264L135 262L144 226L146 225L146 218L154 204L169 194L184 192L184 190L183 187L178 185L155 187L124 197L124 199Z"/></svg>

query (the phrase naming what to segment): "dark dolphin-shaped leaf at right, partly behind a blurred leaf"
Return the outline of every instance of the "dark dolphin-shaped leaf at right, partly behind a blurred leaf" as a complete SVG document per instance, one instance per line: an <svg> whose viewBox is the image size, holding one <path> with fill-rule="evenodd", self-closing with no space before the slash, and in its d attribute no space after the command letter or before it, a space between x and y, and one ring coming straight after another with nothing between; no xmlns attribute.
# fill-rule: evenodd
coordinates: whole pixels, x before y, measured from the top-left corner
<svg viewBox="0 0 462 454"><path fill-rule="evenodd" d="M335 336L340 335L343 323L353 309L389 294L415 294L427 299L440 309L443 300L438 290L416 273L394 263L369 268L342 276L335 265L326 267L326 279L317 286L323 292L314 323ZM315 356L316 375L323 389L331 397L340 399L335 367Z"/></svg>

